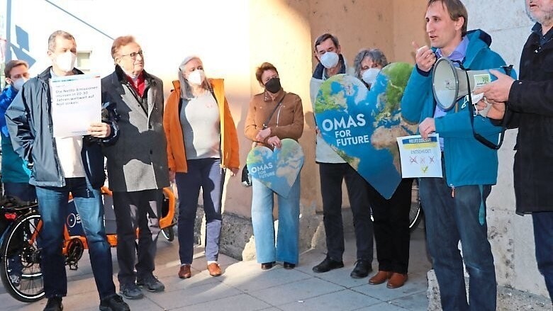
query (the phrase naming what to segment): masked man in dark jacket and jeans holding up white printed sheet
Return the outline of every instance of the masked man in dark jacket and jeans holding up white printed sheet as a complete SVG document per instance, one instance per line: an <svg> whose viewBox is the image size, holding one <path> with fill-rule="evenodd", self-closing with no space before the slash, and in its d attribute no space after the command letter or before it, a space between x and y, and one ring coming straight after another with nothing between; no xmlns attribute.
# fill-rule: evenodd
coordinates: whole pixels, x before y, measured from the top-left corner
<svg viewBox="0 0 553 311"><path fill-rule="evenodd" d="M113 284L110 246L104 229L104 205L100 187L106 178L101 144L114 142L118 135L113 111L106 123L92 123L84 137L53 137L50 78L82 74L74 68L77 44L74 37L57 30L48 39L52 67L30 79L6 111L6 123L13 149L33 165L29 183L36 186L40 230L40 268L48 303L45 311L63 310L67 276L62 254L63 227L67 200L72 193L89 247L90 262L100 310L129 310ZM98 107L100 110L101 107ZM96 138L92 138L96 137Z"/></svg>

